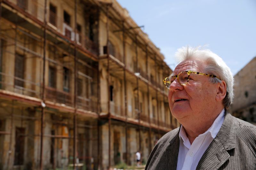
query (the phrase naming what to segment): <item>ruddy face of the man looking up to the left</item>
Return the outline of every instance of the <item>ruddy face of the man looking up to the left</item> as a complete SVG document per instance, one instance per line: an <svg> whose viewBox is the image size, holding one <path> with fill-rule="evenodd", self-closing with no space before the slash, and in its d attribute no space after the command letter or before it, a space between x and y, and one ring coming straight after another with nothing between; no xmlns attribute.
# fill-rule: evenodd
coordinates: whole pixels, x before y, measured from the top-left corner
<svg viewBox="0 0 256 170"><path fill-rule="evenodd" d="M185 60L177 65L172 75L188 70L203 72L204 65L198 60ZM181 124L184 121L200 123L210 114L209 110L214 109L217 92L217 85L210 83L207 76L190 74L186 85L180 85L176 78L170 86L168 96L172 115Z"/></svg>

